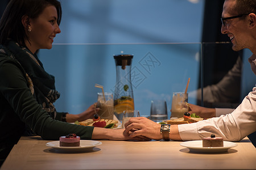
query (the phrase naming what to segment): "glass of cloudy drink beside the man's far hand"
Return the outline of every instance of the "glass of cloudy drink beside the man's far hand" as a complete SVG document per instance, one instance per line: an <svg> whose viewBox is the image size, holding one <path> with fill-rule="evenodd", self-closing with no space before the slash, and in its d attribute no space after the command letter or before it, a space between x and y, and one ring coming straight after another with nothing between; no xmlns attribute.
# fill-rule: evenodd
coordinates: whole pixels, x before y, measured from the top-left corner
<svg viewBox="0 0 256 170"><path fill-rule="evenodd" d="M171 112L171 119L181 118L185 112L188 112L188 93L174 92Z"/></svg>

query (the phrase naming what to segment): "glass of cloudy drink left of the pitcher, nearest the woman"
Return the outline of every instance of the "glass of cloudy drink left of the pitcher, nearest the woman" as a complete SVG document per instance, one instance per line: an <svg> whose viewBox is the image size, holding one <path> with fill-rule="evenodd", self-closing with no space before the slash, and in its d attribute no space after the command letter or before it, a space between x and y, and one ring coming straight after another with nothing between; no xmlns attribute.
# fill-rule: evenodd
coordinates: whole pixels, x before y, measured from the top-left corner
<svg viewBox="0 0 256 170"><path fill-rule="evenodd" d="M105 119L113 119L114 117L114 99L113 93L102 92L98 93L97 108L100 108L98 111L98 116Z"/></svg>

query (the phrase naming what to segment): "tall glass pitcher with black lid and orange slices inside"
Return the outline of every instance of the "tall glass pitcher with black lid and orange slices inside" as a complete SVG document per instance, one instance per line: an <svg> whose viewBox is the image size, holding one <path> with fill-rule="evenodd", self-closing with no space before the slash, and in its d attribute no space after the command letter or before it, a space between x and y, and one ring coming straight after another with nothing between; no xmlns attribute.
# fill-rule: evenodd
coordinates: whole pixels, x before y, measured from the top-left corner
<svg viewBox="0 0 256 170"><path fill-rule="evenodd" d="M131 84L131 60L133 55L115 55L117 82L114 91L114 114L122 122L123 111L134 110L133 86Z"/></svg>

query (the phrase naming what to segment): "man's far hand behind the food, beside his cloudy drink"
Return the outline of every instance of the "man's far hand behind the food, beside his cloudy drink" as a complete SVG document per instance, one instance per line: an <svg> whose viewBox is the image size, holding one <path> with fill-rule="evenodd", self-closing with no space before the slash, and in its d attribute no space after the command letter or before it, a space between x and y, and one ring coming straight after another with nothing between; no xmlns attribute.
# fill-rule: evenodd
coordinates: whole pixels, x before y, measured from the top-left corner
<svg viewBox="0 0 256 170"><path fill-rule="evenodd" d="M205 108L194 104L189 104L189 113L196 113L197 116L203 118L216 117L216 111L214 108Z"/></svg>

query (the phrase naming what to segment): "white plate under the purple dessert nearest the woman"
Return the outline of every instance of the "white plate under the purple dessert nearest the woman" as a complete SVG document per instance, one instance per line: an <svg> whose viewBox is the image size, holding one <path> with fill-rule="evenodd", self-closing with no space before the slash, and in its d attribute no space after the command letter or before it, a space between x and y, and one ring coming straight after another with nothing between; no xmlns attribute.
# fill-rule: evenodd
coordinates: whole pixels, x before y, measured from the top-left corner
<svg viewBox="0 0 256 170"><path fill-rule="evenodd" d="M60 152L84 152L90 151L94 147L101 145L99 141L90 141L90 140L80 140L80 146L77 147L63 147L60 146L60 141L53 141L46 143L46 146L55 148L55 150Z"/></svg>

